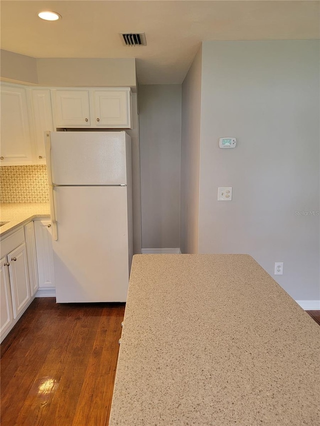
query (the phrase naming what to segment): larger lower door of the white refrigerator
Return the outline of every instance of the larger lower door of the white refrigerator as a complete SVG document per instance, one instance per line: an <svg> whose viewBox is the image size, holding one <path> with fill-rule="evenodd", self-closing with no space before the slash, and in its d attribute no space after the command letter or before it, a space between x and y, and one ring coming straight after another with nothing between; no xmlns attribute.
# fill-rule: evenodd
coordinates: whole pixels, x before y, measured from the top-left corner
<svg viewBox="0 0 320 426"><path fill-rule="evenodd" d="M55 187L56 302L124 302L129 279L127 188Z"/></svg>

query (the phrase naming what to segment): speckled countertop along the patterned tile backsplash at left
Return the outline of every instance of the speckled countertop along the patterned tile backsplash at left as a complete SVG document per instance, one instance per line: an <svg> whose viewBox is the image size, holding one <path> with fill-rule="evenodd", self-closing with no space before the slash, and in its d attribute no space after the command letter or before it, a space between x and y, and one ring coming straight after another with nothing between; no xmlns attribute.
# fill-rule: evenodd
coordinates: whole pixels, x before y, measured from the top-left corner
<svg viewBox="0 0 320 426"><path fill-rule="evenodd" d="M0 203L0 220L8 222L0 227L0 237L9 234L34 219L35 217L50 217L48 203Z"/></svg>

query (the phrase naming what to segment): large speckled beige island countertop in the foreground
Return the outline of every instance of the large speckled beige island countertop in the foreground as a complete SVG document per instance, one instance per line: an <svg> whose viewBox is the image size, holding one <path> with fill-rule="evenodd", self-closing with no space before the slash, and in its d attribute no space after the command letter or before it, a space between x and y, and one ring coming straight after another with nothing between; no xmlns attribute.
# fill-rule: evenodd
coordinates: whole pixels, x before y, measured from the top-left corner
<svg viewBox="0 0 320 426"><path fill-rule="evenodd" d="M109 426L320 425L320 327L248 255L135 255Z"/></svg>

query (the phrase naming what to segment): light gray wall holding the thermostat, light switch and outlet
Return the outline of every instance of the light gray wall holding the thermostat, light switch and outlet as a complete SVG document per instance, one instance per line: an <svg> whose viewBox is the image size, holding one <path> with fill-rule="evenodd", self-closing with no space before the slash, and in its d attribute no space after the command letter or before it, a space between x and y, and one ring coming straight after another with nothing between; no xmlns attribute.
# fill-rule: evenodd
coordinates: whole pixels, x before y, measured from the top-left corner
<svg viewBox="0 0 320 426"><path fill-rule="evenodd" d="M295 213L319 210L318 120L318 41L203 43L199 252L248 253L272 276L284 262L295 300L320 299L319 216Z"/></svg>

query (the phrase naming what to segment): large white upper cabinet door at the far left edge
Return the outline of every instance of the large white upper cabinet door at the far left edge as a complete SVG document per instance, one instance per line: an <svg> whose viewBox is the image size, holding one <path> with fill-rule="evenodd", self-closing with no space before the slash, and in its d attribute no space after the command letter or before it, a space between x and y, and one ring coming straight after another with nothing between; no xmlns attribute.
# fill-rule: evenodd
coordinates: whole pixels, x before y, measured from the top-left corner
<svg viewBox="0 0 320 426"><path fill-rule="evenodd" d="M32 164L26 90L2 85L0 164Z"/></svg>

